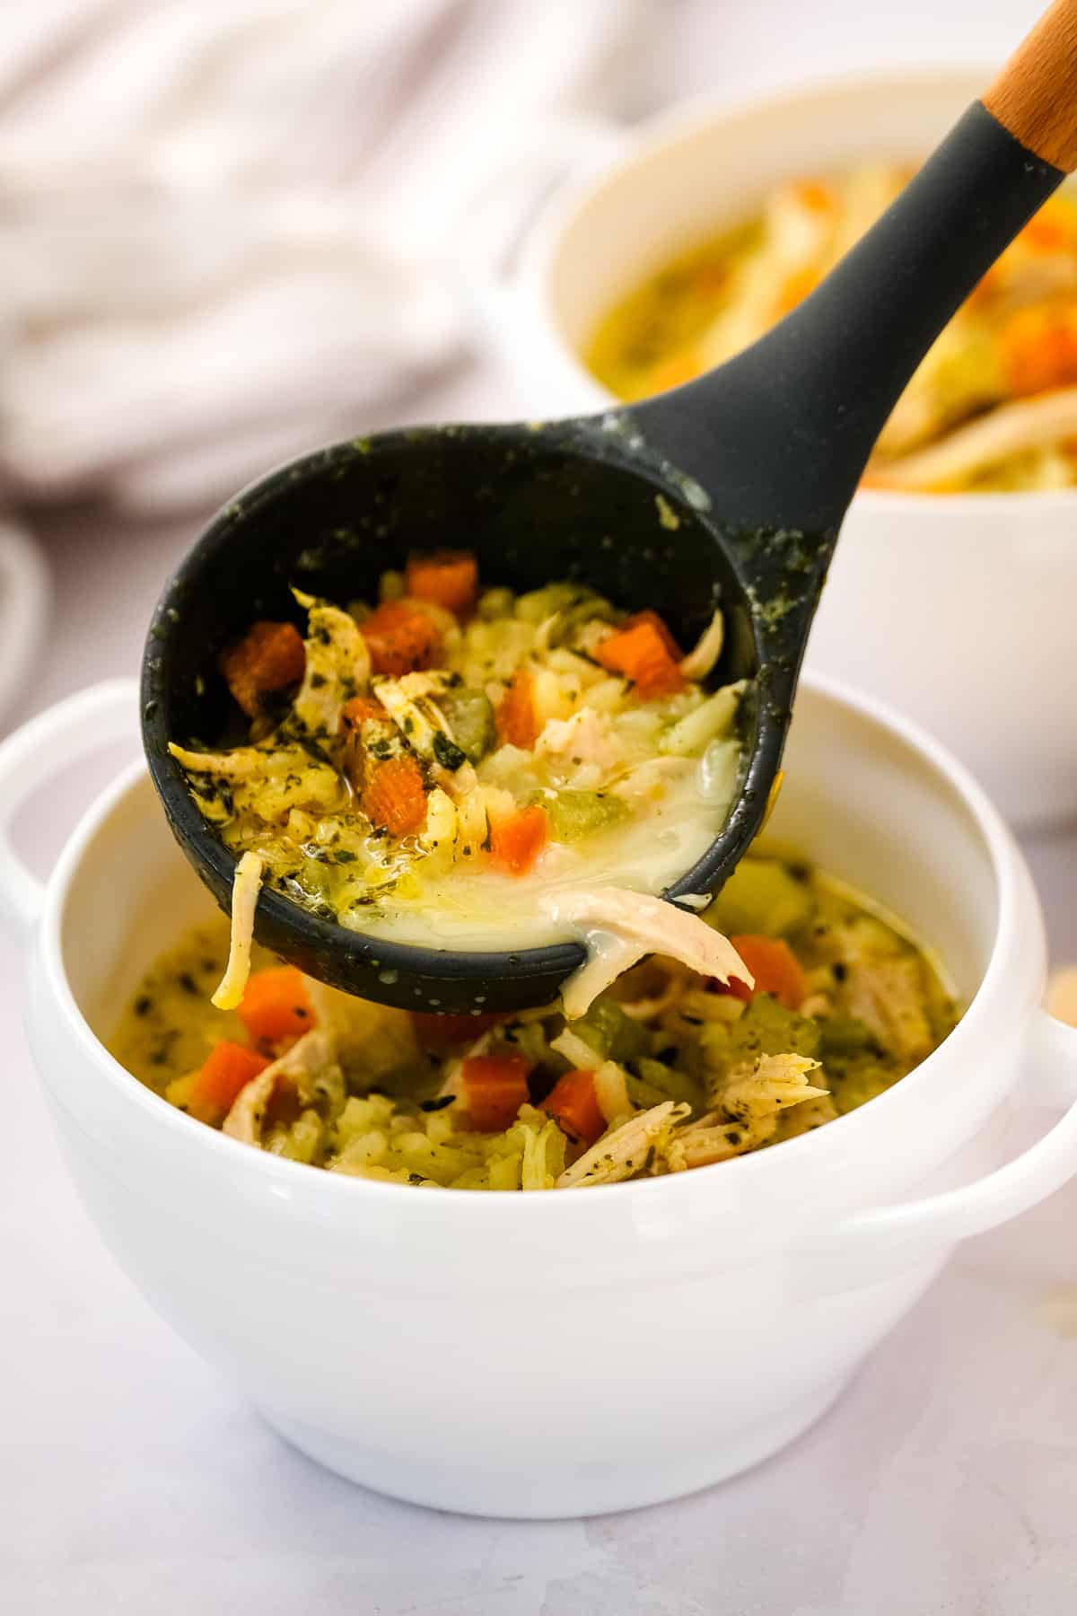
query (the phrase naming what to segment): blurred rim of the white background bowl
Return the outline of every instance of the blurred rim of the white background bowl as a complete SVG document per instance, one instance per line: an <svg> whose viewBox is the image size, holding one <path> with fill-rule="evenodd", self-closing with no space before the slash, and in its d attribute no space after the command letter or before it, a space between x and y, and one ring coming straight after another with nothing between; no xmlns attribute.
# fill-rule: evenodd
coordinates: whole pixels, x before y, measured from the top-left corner
<svg viewBox="0 0 1077 1616"><path fill-rule="evenodd" d="M602 409L604 404L617 407L623 401L588 370L581 354L565 339L560 326L552 318L547 297L547 276L552 268L557 242L585 202L594 197L625 168L631 166L631 163L652 157L664 145L686 139L710 124L733 123L752 113L765 113L778 107L794 107L798 102L817 103L853 90L875 89L883 92L888 87L896 87L898 94L903 94L909 90L916 92L917 87L940 89L941 86L954 84L961 86L964 92L974 79L987 86L996 69L998 63L990 61L925 63L920 68L848 68L841 73L820 73L817 78L777 84L756 92L749 90L728 102L715 100L714 95L706 92L693 95L675 107L646 118L635 128L628 128L622 152L585 163L581 171L555 187L526 233L520 254L517 284L528 288L541 302L546 339L554 344L559 360L573 372L581 389L589 388L596 393L594 407ZM1050 514L1056 506L1067 511L1075 496L1077 488L1025 488L1012 493L1001 490L985 490L983 493L928 493L917 488L861 488L856 493L856 504L880 511L904 511L912 507L914 511L941 509L943 512L983 516L995 509L1012 507L1014 501L1019 504L1032 501L1037 514Z"/></svg>

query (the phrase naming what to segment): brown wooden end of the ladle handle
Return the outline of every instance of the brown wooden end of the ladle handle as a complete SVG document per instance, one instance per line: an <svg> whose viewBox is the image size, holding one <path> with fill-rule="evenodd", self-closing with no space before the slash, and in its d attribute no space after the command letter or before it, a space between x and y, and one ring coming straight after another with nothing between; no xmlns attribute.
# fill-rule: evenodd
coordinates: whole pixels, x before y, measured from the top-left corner
<svg viewBox="0 0 1077 1616"><path fill-rule="evenodd" d="M1077 0L1054 0L983 95L1004 129L1045 163L1077 168Z"/></svg>

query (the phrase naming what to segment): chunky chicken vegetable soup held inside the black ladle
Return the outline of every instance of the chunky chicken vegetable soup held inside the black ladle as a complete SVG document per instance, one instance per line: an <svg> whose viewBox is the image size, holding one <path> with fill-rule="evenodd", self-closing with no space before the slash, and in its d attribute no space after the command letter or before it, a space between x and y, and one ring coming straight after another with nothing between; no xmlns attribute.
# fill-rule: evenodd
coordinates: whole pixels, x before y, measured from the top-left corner
<svg viewBox="0 0 1077 1616"><path fill-rule="evenodd" d="M237 855L242 992L262 882L342 926L450 949L572 936L576 1008L660 947L723 974L698 916L656 902L717 835L743 684L714 688L722 614L693 648L578 583L481 588L467 553L413 556L378 601L297 593L221 656L236 743L171 751Z"/></svg>

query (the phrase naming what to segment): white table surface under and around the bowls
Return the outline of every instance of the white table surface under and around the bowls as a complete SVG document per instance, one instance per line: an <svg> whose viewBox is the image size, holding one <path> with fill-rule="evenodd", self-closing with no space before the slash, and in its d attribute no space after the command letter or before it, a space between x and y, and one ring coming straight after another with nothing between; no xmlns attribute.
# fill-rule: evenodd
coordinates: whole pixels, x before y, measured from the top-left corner
<svg viewBox="0 0 1077 1616"><path fill-rule="evenodd" d="M496 396L468 383L415 414L496 410ZM26 713L136 669L150 604L192 532L48 524L55 630ZM39 866L94 782L81 771L34 805L26 844ZM1056 957L1077 958L1077 827L1025 845ZM318 1471L150 1312L60 1164L19 997L19 960L5 945L0 1611L1077 1610L1077 1309L1067 1335L1045 1307L1077 1283L1077 1185L964 1248L838 1408L751 1474L630 1516L457 1519Z"/></svg>

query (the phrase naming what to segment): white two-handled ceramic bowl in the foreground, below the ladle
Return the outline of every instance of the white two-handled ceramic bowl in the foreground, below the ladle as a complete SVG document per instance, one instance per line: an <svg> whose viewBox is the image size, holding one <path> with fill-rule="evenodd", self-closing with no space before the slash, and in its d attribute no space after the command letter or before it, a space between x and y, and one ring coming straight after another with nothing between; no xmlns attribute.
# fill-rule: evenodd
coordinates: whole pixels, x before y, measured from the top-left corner
<svg viewBox="0 0 1077 1616"><path fill-rule="evenodd" d="M1043 926L1017 847L933 742L817 680L773 829L941 949L970 1007L917 1071L757 1155L538 1196L410 1191L228 1139L100 1042L208 905L142 764L86 813L44 890L11 848L27 795L134 722L134 687L113 684L0 748L0 905L24 942L31 1047L116 1259L344 1475L533 1517L706 1487L804 1430L956 1241L1077 1170L1077 1031L1037 1008ZM998 1167L980 1130L1029 1068L1071 1110Z"/></svg>

